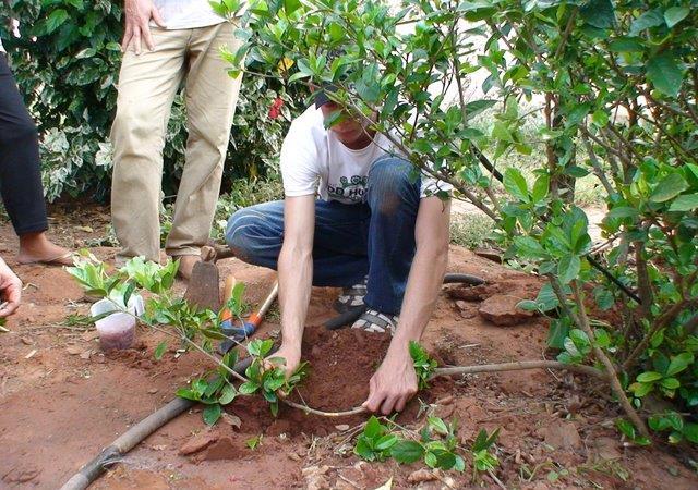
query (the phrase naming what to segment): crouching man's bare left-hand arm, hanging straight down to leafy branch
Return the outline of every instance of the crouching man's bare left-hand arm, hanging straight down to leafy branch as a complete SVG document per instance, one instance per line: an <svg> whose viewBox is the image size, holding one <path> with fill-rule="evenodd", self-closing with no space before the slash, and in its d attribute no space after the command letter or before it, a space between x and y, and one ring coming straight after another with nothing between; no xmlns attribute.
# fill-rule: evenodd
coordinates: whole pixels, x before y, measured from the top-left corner
<svg viewBox="0 0 698 490"><path fill-rule="evenodd" d="M287 197L284 205L284 245L279 254L281 346L275 357L286 359L292 372L301 359L301 341L313 283L315 196Z"/></svg>

